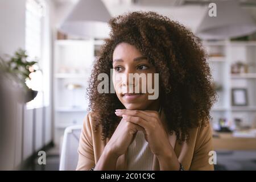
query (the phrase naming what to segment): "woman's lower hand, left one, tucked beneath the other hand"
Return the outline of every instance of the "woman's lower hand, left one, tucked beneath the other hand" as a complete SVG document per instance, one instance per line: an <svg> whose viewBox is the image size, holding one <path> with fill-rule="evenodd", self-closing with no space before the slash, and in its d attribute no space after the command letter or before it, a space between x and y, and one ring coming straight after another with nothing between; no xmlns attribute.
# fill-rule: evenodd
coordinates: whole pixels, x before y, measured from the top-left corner
<svg viewBox="0 0 256 182"><path fill-rule="evenodd" d="M127 151L135 138L137 131L143 130L141 126L138 126L132 122L126 122L125 119L121 119L117 129L106 144L106 148L116 156L117 158Z"/></svg>

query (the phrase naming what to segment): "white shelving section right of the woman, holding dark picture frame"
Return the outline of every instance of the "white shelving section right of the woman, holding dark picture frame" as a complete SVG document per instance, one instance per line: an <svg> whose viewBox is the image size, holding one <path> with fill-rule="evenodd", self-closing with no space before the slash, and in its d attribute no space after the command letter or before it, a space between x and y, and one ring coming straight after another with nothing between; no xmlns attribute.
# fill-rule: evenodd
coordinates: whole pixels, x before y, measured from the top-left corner
<svg viewBox="0 0 256 182"><path fill-rule="evenodd" d="M222 90L217 91L218 102L211 110L213 126L217 126L220 118L226 118L230 123L234 122L235 118L240 118L243 122L242 125L255 127L256 42L205 41L203 46L209 55L208 63L212 70L213 79L217 84L222 85ZM249 73L232 74L231 66L237 61L254 66L249 67ZM232 105L232 88L247 89L247 106Z"/></svg>

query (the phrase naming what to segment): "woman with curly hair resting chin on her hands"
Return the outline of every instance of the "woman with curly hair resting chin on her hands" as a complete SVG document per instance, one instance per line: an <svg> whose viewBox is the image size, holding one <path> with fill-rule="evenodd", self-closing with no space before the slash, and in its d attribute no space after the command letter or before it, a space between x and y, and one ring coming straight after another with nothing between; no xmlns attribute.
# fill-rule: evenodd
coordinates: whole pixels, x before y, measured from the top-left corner
<svg viewBox="0 0 256 182"><path fill-rule="evenodd" d="M110 27L90 79L77 170L212 170L209 110L216 93L201 44L154 12L118 16ZM112 76L115 93L98 92L101 73ZM142 92L142 79L139 93L130 93L135 73L159 73L159 80L146 77L146 86L159 81L158 98Z"/></svg>

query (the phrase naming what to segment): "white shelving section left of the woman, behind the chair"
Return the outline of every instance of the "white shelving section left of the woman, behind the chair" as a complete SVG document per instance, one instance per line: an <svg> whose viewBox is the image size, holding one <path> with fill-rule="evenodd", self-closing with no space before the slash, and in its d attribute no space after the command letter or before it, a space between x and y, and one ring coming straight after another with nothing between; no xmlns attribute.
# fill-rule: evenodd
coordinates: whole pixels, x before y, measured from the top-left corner
<svg viewBox="0 0 256 182"><path fill-rule="evenodd" d="M96 57L94 54L103 43L102 40L94 39L55 42L53 98L56 144L60 143L66 127L82 124L88 108L86 88ZM79 88L72 90L74 85L79 85Z"/></svg>

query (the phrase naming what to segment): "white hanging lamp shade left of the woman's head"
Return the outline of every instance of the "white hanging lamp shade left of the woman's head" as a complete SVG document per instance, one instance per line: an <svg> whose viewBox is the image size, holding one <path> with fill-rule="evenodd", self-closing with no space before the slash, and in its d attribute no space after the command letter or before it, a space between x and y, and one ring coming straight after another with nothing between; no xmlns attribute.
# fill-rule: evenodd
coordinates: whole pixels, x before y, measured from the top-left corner
<svg viewBox="0 0 256 182"><path fill-rule="evenodd" d="M103 39L108 37L111 18L101 0L80 0L60 25L68 35Z"/></svg>

